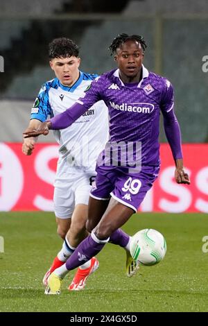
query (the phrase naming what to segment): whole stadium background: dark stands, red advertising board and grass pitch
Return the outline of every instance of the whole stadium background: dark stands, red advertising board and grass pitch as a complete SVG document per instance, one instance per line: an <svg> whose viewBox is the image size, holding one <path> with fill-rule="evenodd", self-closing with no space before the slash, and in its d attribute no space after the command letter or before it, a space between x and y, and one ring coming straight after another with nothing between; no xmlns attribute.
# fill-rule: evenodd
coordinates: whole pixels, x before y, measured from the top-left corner
<svg viewBox="0 0 208 326"><path fill-rule="evenodd" d="M0 311L207 311L207 0L1 0L0 18ZM123 252L109 245L81 298L71 293L69 300L64 290L60 300L46 300L40 280L61 241L52 212L27 211L53 210L58 146L51 132L26 157L21 133L40 86L53 78L48 43L70 37L80 46L81 70L102 73L115 67L107 47L118 33L144 35L144 65L173 83L191 185L173 182L171 153L162 144L161 173L141 206L159 213L138 214L125 226L130 234L139 228L165 234L161 266L126 280ZM10 210L26 212L5 212Z"/></svg>

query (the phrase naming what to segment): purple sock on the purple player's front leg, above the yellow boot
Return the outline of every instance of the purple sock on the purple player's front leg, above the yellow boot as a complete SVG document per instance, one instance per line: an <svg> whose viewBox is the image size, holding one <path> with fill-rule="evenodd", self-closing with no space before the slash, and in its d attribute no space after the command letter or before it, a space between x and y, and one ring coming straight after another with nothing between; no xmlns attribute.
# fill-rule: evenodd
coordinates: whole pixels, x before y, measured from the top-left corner
<svg viewBox="0 0 208 326"><path fill-rule="evenodd" d="M104 240L102 242L96 242L94 239L92 239L92 236L95 237L94 235L90 234L78 245L69 259L67 259L66 267L68 271L83 265L86 261L97 255L108 241L107 239L106 241Z"/></svg>

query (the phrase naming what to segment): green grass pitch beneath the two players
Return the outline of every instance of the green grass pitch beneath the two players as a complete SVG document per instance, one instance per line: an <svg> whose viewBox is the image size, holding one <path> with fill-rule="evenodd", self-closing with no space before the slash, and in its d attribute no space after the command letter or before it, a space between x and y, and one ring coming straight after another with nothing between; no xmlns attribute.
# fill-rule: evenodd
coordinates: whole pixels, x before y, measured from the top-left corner
<svg viewBox="0 0 208 326"><path fill-rule="evenodd" d="M166 238L166 257L157 266L141 266L128 278L124 250L107 244L84 291L67 290L72 271L59 296L44 295L42 277L62 246L53 214L2 212L0 311L208 311L208 252L202 252L207 214L135 214L123 230L144 228Z"/></svg>

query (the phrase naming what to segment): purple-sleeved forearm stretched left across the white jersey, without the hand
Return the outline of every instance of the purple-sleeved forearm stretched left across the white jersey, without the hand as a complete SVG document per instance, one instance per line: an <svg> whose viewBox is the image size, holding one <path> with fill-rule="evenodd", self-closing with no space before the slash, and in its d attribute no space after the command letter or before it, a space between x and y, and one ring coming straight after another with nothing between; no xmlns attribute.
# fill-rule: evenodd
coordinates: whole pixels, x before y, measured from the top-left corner
<svg viewBox="0 0 208 326"><path fill-rule="evenodd" d="M75 103L71 106L71 108L67 109L66 111L56 115L55 117L51 118L49 129L52 130L60 130L65 129L71 124L76 121L85 111L87 111L84 105L80 103Z"/></svg>

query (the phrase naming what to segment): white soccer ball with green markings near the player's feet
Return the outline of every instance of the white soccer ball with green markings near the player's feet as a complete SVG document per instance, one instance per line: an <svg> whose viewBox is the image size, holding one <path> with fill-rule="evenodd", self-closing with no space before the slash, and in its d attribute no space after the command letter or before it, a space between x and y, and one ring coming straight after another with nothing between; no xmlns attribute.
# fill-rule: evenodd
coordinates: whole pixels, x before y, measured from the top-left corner
<svg viewBox="0 0 208 326"><path fill-rule="evenodd" d="M144 266L153 266L166 255L166 240L163 235L153 229L137 232L130 241L130 254L133 259Z"/></svg>

